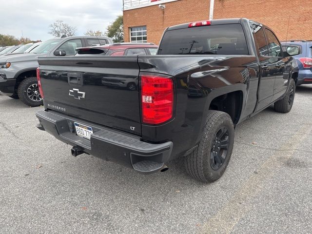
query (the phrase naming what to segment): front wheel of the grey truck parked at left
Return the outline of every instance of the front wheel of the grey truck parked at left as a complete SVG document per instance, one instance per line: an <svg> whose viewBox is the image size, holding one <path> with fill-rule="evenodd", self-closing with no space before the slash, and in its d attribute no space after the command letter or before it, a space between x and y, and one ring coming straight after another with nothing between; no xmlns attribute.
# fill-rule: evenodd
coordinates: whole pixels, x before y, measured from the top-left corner
<svg viewBox="0 0 312 234"><path fill-rule="evenodd" d="M18 87L18 95L20 100L28 106L36 107L43 105L36 77L25 78L21 81Z"/></svg>

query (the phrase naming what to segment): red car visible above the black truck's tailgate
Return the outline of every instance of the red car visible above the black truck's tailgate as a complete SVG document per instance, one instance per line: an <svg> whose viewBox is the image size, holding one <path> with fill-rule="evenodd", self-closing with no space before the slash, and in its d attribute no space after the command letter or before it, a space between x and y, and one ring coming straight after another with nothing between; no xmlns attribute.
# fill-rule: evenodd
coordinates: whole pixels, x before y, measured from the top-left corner
<svg viewBox="0 0 312 234"><path fill-rule="evenodd" d="M156 55L158 46L153 43L114 43L92 47L77 48L76 56L86 55Z"/></svg>

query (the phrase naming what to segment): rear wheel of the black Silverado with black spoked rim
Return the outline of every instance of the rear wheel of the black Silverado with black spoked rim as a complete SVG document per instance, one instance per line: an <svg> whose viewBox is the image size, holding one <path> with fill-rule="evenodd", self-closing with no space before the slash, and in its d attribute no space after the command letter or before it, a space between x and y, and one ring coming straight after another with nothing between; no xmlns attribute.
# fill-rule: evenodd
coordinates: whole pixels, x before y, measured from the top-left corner
<svg viewBox="0 0 312 234"><path fill-rule="evenodd" d="M197 149L185 157L188 174L206 183L219 179L229 164L233 146L234 125L231 117L224 112L209 111Z"/></svg>

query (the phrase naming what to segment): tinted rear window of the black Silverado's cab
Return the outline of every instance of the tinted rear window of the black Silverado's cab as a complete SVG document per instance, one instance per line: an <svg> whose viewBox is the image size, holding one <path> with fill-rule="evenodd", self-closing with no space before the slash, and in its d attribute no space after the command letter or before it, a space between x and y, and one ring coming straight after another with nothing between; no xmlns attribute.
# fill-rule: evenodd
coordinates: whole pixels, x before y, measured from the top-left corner
<svg viewBox="0 0 312 234"><path fill-rule="evenodd" d="M167 31L158 55L248 55L240 24L220 24Z"/></svg>

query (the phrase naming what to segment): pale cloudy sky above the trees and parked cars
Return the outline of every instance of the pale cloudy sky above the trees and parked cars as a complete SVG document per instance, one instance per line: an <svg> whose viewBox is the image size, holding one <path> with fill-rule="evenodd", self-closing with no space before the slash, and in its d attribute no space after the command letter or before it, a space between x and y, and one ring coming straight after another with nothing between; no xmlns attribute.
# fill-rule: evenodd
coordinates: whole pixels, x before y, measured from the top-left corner
<svg viewBox="0 0 312 234"><path fill-rule="evenodd" d="M56 20L75 26L76 35L83 36L88 29L104 32L122 15L122 0L10 0L0 5L0 34L42 41L53 38L49 25Z"/></svg>

